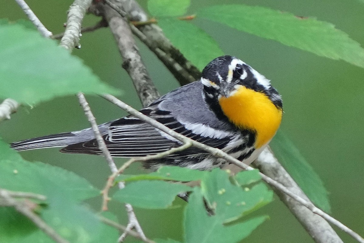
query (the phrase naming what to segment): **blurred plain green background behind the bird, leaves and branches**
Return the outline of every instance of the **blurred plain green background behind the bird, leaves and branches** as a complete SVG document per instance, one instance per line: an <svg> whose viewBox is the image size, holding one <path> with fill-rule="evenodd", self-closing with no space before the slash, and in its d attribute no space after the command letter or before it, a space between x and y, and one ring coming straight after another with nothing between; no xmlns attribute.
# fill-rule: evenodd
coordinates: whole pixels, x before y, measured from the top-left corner
<svg viewBox="0 0 364 243"><path fill-rule="evenodd" d="M40 20L54 34L64 30L67 9L71 0L28 0ZM143 7L146 1L139 1ZM223 1L242 3L242 1ZM192 0L189 13L207 5L221 4L219 0ZM351 1L268 1L246 0L244 4L261 5L298 16L314 16L346 32L364 46L364 2ZM0 17L9 20L26 19L13 1L1 4ZM91 26L99 18L86 16L84 26ZM332 216L364 235L364 69L344 61L316 56L277 43L245 34L207 20L193 20L215 38L222 50L235 55L272 80L283 97L284 119L281 129L294 142L302 155L318 173L330 193ZM142 43L139 50L151 78L161 94L179 85L161 62ZM74 50L84 62L110 85L124 91L124 102L139 109L141 104L127 73L121 68L122 60L114 38L108 28L85 33L82 48ZM208 51L208 50L206 50ZM6 57L2 57L6 58ZM52 70L50 70L51 72ZM6 81L1 81L6 82ZM26 82L26 80L24 81ZM11 85L11 84L9 84ZM87 97L98 123L126 115L118 107L97 96ZM0 124L0 136L13 142L52 133L67 132L89 127L76 96L57 98L32 109L22 107L12 119ZM42 161L73 171L102 188L110 174L102 157L70 155L57 148L22 152L29 161ZM124 160L116 159L120 165ZM138 173L135 165L129 173ZM100 200L87 202L95 210ZM185 203L177 199L168 210L135 209L146 235L150 238L182 240L182 210ZM110 203L110 210L126 222L122 204ZM277 198L259 210L270 219L258 227L244 242L313 242L284 204ZM177 224L175 223L177 222ZM206 226L208 227L208 226ZM355 242L338 231L344 242ZM132 238L128 238L128 241Z"/></svg>

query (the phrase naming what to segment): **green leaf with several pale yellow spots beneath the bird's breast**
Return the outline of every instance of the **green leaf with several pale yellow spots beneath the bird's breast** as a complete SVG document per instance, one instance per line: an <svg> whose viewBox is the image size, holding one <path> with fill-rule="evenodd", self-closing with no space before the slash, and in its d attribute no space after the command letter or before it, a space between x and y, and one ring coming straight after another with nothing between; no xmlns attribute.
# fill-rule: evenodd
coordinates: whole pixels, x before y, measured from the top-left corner
<svg viewBox="0 0 364 243"><path fill-rule="evenodd" d="M249 178L250 177L250 178ZM246 180L253 180L256 175L246 173ZM226 171L214 169L201 181L201 190L209 208L224 223L237 220L273 199L273 192L264 183L241 188L230 183Z"/></svg>

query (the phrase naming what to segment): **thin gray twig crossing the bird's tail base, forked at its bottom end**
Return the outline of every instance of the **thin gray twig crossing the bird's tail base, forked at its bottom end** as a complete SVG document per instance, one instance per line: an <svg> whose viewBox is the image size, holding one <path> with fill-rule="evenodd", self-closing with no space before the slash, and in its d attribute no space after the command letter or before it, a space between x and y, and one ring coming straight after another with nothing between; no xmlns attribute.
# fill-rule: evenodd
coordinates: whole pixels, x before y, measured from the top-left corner
<svg viewBox="0 0 364 243"><path fill-rule="evenodd" d="M84 95L82 93L79 93L77 96L78 96L80 104L81 104L81 106L82 106L82 108L83 108L83 110L85 112L85 115L87 116L87 119L91 124L92 130L94 131L94 135L95 135L96 141L98 143L99 149L104 154L104 156L105 156L105 158L106 158L106 160L108 162L108 165L109 165L109 167L111 169L111 172L112 173L117 172L118 168L116 167L115 162L112 159L109 150L107 149L105 141L103 140L102 135L100 133L100 130L98 128L98 125L96 124L96 119L95 119L94 115L91 112L90 106L88 105L88 103L86 101L86 98L84 97ZM125 187L123 182L119 182L118 186L119 186L120 189ZM146 239L146 236L145 236L145 234L144 234L144 232L142 230L142 227L140 226L140 224L138 222L137 217L135 216L135 213L134 213L134 210L133 210L132 206L127 203L127 204L125 204L125 208L126 208L126 211L127 211L127 214L128 214L128 219L129 219L128 226L130 228L135 228L135 230L138 232L138 234L141 236L141 238ZM122 239L124 239L125 236L126 236L126 233L124 232L122 236L123 236ZM122 237L122 236L120 236L120 237Z"/></svg>

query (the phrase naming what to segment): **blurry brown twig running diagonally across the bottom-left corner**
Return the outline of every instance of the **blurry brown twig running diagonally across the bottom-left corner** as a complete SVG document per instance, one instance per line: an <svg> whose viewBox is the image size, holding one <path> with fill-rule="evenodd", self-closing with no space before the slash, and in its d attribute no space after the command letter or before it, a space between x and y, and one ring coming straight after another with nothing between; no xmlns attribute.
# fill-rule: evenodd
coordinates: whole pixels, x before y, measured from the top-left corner
<svg viewBox="0 0 364 243"><path fill-rule="evenodd" d="M38 215L31 211L24 203L13 199L10 193L0 188L0 197L7 203L20 212L28 219L30 219L41 231L50 236L55 242L58 243L69 243L67 240L63 239L54 229L52 229L46 222L44 222Z"/></svg>

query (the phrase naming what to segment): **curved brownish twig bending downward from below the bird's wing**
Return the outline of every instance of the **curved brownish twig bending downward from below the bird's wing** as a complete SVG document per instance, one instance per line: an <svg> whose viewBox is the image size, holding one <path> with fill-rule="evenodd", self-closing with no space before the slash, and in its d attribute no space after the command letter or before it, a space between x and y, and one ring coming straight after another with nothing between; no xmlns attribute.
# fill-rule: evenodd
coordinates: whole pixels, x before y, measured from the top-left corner
<svg viewBox="0 0 364 243"><path fill-rule="evenodd" d="M190 148L192 146L191 143L187 142L177 148L171 148L165 152L161 152L161 153L157 153L157 154L153 154L153 155L147 155L144 157L138 157L138 158L131 158L130 160L128 160L126 163L124 163L119 169L118 171L114 172L111 176L109 176L106 186L105 188L102 190L102 195L103 195L103 210L104 208L107 208L107 202L110 200L108 197L108 191L109 189L114 185L114 180L115 178L120 175L121 173L124 172L124 170L126 168L128 168L132 163L134 162L145 162L145 161L149 161L149 160L155 160L155 159L159 159L168 155L171 155L173 153L176 152L180 152L183 151L187 148Z"/></svg>

